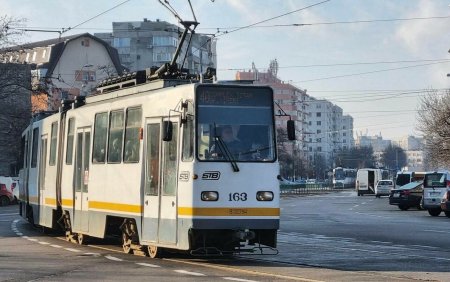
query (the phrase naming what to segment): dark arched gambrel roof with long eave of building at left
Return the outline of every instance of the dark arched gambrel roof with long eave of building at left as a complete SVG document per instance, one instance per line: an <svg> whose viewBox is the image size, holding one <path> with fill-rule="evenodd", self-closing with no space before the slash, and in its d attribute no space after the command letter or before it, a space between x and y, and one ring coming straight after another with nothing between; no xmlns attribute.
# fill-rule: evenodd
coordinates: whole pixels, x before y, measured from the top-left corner
<svg viewBox="0 0 450 282"><path fill-rule="evenodd" d="M52 52L50 55L49 64L48 64L48 72L47 72L49 75L51 75L53 73L53 70L55 69L56 64L58 63L60 57L62 56L66 45L69 42L76 40L80 37L89 37L92 40L95 40L95 41L99 42L100 44L102 44L103 46L105 46L106 51L108 52L108 55L111 58L118 74L119 75L122 74L123 67L120 63L119 54L117 52L117 49L111 47L106 41L104 41L90 33L75 34L75 35L59 37L59 38L54 38L54 39L48 39L48 40L43 40L43 41L36 41L36 42L17 45L17 46L13 46L13 47L2 48L2 49L0 49L0 53L51 46Z"/></svg>

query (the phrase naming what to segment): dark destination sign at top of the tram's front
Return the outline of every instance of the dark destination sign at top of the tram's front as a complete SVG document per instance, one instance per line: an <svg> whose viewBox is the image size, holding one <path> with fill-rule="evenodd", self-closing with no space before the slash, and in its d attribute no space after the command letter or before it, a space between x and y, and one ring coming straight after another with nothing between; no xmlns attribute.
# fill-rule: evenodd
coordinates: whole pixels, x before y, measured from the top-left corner
<svg viewBox="0 0 450 282"><path fill-rule="evenodd" d="M268 87L199 86L197 104L215 106L271 106L272 89Z"/></svg>

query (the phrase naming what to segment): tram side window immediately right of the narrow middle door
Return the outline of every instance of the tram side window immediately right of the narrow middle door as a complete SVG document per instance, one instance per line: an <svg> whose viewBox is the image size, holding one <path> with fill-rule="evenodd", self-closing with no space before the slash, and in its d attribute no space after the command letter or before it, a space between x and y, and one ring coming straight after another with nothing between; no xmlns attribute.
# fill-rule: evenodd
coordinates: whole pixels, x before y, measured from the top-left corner
<svg viewBox="0 0 450 282"><path fill-rule="evenodd" d="M93 155L92 162L94 164L105 163L107 135L108 135L108 113L96 114L94 124L94 149L92 152Z"/></svg>

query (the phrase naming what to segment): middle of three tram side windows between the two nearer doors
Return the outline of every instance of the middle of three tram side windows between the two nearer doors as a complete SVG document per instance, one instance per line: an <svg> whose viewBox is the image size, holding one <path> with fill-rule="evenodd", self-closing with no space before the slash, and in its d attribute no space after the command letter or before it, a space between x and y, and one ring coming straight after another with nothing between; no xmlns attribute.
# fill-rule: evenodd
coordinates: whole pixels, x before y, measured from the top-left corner
<svg viewBox="0 0 450 282"><path fill-rule="evenodd" d="M111 112L108 140L108 163L122 161L123 140L123 111Z"/></svg>

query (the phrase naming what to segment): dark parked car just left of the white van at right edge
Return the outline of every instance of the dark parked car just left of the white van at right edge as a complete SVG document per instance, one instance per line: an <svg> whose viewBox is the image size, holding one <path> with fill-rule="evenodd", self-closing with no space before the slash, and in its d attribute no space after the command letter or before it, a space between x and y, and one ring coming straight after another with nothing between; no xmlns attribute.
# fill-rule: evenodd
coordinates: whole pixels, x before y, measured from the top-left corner
<svg viewBox="0 0 450 282"><path fill-rule="evenodd" d="M423 182L410 182L397 189L392 189L389 195L389 204L398 206L402 211L411 207L422 209Z"/></svg>

